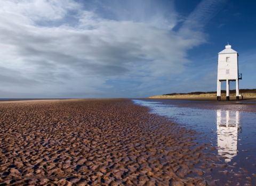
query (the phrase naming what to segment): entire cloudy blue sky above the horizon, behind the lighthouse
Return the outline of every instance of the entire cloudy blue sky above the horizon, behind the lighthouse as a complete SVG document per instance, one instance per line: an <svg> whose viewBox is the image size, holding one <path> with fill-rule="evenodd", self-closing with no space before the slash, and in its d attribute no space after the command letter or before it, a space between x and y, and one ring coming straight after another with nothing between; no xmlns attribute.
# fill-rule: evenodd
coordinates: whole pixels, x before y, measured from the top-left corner
<svg viewBox="0 0 256 186"><path fill-rule="evenodd" d="M254 1L10 0L0 6L0 98L216 91L218 53L228 42L239 53L239 88L255 88Z"/></svg>

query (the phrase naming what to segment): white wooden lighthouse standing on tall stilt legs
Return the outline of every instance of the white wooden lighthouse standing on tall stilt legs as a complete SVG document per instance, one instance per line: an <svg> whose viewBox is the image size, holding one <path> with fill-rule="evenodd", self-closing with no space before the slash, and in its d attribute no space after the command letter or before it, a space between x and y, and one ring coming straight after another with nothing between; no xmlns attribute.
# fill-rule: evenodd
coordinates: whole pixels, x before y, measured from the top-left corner
<svg viewBox="0 0 256 186"><path fill-rule="evenodd" d="M227 101L229 101L229 81L236 81L236 100L239 100L239 79L242 74L238 74L238 53L226 45L226 49L219 53L218 58L218 80L217 80L217 100L221 98L221 81L227 83Z"/></svg>

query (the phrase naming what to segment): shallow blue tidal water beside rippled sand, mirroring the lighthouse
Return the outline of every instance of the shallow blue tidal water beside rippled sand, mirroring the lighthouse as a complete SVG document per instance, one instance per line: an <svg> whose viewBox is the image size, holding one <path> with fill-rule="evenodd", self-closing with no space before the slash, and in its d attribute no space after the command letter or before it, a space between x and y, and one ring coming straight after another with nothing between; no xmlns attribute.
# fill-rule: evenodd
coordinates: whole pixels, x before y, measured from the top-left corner
<svg viewBox="0 0 256 186"><path fill-rule="evenodd" d="M223 177L218 175L219 177L233 180L234 184L239 181L256 184L256 104L132 100L135 104L149 107L152 114L169 117L173 122L199 132L199 144L207 143L215 147L215 150L208 152L220 157L220 161L227 164L228 172ZM238 174L242 176L234 176Z"/></svg>

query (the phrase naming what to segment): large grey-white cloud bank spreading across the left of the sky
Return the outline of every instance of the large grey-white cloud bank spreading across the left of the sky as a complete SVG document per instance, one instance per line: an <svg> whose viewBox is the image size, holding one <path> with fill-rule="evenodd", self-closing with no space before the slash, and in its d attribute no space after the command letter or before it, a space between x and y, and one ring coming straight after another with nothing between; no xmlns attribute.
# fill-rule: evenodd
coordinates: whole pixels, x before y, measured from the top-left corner
<svg viewBox="0 0 256 186"><path fill-rule="evenodd" d="M175 12L169 20L160 11L149 20L110 20L70 0L3 1L1 5L0 70L7 72L0 77L3 92L111 97L105 94L107 89L118 89L120 84L106 82L119 79L137 94L182 73L190 63L187 50L205 41L200 35L183 37L171 31ZM70 10L76 11L76 26L65 21L55 27L37 24L63 21Z"/></svg>

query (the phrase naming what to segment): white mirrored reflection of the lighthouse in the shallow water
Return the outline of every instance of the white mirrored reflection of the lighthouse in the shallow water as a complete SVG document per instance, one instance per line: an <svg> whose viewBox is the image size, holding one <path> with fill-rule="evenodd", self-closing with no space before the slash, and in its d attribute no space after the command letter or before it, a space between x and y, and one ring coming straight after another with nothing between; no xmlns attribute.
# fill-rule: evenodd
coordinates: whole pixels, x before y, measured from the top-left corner
<svg viewBox="0 0 256 186"><path fill-rule="evenodd" d="M239 112L217 111L218 155L226 156L230 162L237 155Z"/></svg>

